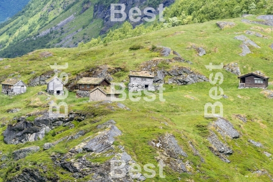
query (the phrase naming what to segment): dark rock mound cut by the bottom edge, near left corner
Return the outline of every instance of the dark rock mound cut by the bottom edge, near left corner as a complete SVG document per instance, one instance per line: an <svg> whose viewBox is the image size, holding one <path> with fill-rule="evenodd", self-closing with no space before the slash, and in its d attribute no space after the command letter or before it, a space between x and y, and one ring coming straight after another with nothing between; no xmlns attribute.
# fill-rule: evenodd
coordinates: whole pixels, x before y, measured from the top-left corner
<svg viewBox="0 0 273 182"><path fill-rule="evenodd" d="M23 169L22 173L14 176L12 179L7 180L7 182L47 182L50 181L43 177L39 170L35 169Z"/></svg>

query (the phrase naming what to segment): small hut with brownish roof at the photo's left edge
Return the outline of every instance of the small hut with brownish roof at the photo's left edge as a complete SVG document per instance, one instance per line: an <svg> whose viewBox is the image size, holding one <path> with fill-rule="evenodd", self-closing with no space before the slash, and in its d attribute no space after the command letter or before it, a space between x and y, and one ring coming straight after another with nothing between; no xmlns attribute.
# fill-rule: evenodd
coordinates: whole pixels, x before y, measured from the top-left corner
<svg viewBox="0 0 273 182"><path fill-rule="evenodd" d="M22 80L18 80L17 78L6 79L1 84L3 94L22 94L26 92L27 85Z"/></svg>

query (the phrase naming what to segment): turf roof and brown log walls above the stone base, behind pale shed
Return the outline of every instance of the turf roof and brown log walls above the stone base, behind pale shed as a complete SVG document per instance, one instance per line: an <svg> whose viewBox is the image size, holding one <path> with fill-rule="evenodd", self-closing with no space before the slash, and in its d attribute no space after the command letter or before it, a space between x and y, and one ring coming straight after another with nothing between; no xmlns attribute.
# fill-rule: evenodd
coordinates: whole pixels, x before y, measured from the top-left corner
<svg viewBox="0 0 273 182"><path fill-rule="evenodd" d="M111 83L106 78L84 77L78 81L79 90L93 90L97 86L110 86Z"/></svg>

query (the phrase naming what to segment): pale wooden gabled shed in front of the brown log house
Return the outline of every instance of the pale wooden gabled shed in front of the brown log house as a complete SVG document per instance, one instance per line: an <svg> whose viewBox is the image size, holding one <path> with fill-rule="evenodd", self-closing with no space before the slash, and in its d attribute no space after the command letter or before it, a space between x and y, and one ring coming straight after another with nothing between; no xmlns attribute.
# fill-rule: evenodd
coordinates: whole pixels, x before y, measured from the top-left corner
<svg viewBox="0 0 273 182"><path fill-rule="evenodd" d="M114 98L119 98L119 93L115 90L111 93L110 86L97 86L90 92L89 101L111 101L111 94L114 95Z"/></svg>

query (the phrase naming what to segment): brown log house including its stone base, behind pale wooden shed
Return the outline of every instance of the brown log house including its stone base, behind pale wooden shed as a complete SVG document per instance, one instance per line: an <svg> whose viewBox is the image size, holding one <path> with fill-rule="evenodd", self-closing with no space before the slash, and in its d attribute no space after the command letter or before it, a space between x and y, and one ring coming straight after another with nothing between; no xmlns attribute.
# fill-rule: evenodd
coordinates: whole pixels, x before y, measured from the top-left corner
<svg viewBox="0 0 273 182"><path fill-rule="evenodd" d="M81 78L77 82L77 84L78 84L78 90L77 90L78 98L89 97L90 93L97 86L109 87L111 85L110 81L108 81L106 78L95 78L95 77Z"/></svg>

